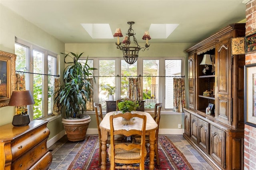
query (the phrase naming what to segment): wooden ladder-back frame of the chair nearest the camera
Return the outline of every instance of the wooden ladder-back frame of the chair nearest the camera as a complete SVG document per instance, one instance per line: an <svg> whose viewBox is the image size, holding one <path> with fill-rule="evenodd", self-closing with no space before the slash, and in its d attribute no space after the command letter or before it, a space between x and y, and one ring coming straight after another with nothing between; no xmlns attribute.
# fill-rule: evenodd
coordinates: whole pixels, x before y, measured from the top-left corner
<svg viewBox="0 0 256 170"><path fill-rule="evenodd" d="M117 127L115 128L114 119L118 120L119 117L122 117L122 119L124 118L127 120L142 119L141 121L142 123L137 126L138 127L137 129L129 129L129 128L126 129L125 126L129 126L129 125L123 125L123 128L120 129L120 125L118 123L117 124L119 125L119 128ZM146 152L146 147L145 147L146 118L147 118L146 115L140 115L137 113L130 113L130 112L110 115L110 150L111 150L110 165L111 166L115 166L115 163L121 163L121 164L140 163L140 168L144 169L144 161L146 156L145 154ZM115 143L114 141L115 135L125 135L126 137L131 135L139 135L141 136L142 140L140 143ZM119 150L122 149L125 151L138 149L139 151L138 153L140 156L138 158L128 159L130 153L124 152L122 154L123 155L122 158L118 158L118 156L116 156L116 152L118 152L116 150L118 149Z"/></svg>

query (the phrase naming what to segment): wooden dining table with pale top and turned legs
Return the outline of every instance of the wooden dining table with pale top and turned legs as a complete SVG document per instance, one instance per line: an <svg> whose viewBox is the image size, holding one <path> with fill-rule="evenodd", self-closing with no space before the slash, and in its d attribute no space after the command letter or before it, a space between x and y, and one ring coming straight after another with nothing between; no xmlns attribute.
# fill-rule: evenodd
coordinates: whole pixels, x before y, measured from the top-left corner
<svg viewBox="0 0 256 170"><path fill-rule="evenodd" d="M100 131L101 131L101 141L102 141L102 152L101 154L102 162L101 162L101 169L106 170L106 160L107 160L107 140L108 140L108 133L110 132L110 115L119 114L120 111L111 111L105 115L103 120L100 123ZM141 115L146 115L147 122L146 122L146 134L149 135L149 170L154 170L154 156L155 156L155 132L158 127L157 123L154 121L153 117L144 111L133 111L132 113L138 113ZM121 117L120 117L121 118ZM116 119L113 121L115 129L141 129L142 120L141 119L132 119L128 124L124 125L122 123L122 118L120 120Z"/></svg>

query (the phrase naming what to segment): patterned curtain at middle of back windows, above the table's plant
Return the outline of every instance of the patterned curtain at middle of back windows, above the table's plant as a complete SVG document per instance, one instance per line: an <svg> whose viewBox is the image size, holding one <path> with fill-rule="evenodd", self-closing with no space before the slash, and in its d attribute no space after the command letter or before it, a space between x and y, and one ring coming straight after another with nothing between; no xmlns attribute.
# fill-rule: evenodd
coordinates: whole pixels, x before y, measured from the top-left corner
<svg viewBox="0 0 256 170"><path fill-rule="evenodd" d="M142 100L141 95L141 77L129 78L128 98L133 100Z"/></svg>

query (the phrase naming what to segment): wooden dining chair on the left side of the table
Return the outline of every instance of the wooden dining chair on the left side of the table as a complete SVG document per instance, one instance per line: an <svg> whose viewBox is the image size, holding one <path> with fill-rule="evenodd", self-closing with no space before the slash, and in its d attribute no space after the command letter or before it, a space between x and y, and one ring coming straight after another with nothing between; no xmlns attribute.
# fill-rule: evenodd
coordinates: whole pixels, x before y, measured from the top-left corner
<svg viewBox="0 0 256 170"><path fill-rule="evenodd" d="M101 104L95 103L94 102L94 111L96 115L96 122L97 122L97 128L98 128L98 134L99 134L99 162L98 165L101 166L101 147L102 147L102 142L101 142L101 131L100 131L100 122L103 119L102 116L102 107ZM116 135L115 141L118 142L123 142L124 141L124 135ZM110 135L108 135L108 140L107 143L110 144Z"/></svg>

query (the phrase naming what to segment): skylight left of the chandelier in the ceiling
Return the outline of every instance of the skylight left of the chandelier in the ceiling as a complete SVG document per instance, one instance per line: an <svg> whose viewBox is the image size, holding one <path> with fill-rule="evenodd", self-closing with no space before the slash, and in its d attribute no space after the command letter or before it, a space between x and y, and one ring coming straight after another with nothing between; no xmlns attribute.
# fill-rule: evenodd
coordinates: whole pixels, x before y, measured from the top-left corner
<svg viewBox="0 0 256 170"><path fill-rule="evenodd" d="M108 23L81 23L93 39L113 39Z"/></svg>

